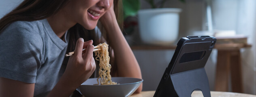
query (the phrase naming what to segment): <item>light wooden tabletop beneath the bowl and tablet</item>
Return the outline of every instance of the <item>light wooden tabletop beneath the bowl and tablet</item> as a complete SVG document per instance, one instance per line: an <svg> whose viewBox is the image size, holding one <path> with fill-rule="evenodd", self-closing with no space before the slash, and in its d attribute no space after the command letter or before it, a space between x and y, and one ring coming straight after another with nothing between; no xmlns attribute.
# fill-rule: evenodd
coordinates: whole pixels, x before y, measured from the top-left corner
<svg viewBox="0 0 256 97"><path fill-rule="evenodd" d="M133 94L130 97L153 97L154 93L155 91L142 91L141 93ZM194 91L191 94L191 97L203 97L203 94L201 91ZM256 97L256 95L211 91L211 97Z"/></svg>

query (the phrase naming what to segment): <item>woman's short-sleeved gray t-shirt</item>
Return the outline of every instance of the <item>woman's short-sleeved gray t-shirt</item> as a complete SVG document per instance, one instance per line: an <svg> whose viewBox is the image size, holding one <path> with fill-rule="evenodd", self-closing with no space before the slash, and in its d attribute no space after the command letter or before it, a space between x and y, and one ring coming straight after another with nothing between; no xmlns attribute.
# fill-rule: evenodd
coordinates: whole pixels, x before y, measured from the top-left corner
<svg viewBox="0 0 256 97"><path fill-rule="evenodd" d="M0 77L35 83L34 96L46 96L64 72L66 36L60 39L47 19L11 23L0 33Z"/></svg>

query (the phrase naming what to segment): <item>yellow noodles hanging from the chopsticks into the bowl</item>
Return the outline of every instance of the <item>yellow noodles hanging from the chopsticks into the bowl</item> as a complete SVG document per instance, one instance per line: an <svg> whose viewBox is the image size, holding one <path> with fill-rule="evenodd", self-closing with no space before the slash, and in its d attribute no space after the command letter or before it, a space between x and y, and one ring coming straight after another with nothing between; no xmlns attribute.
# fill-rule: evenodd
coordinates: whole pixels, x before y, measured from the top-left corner
<svg viewBox="0 0 256 97"><path fill-rule="evenodd" d="M98 44L98 46L100 46L99 48L101 48L100 51L95 51L95 56L96 56L96 60L100 61L99 66L99 77L97 78L97 82L99 85L99 81L98 79L100 78L100 85L111 85L111 84L117 84L116 82L112 82L111 80L111 75L110 75L110 69L111 69L111 65L109 64L109 45L106 44L105 42L102 44Z"/></svg>

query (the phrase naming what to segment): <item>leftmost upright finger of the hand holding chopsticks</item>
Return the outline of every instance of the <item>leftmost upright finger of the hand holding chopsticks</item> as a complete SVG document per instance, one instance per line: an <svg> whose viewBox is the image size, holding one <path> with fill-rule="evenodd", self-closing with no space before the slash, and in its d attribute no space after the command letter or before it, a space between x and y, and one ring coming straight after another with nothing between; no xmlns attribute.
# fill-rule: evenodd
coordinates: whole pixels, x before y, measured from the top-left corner
<svg viewBox="0 0 256 97"><path fill-rule="evenodd" d="M81 56L83 51L83 38L79 38L75 47L75 56Z"/></svg>

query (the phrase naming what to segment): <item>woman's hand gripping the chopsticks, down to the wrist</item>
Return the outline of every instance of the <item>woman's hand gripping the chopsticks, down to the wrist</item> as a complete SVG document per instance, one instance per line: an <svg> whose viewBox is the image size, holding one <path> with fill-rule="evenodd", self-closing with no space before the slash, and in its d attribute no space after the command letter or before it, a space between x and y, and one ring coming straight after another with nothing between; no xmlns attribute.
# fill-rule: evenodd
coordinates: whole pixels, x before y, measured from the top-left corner
<svg viewBox="0 0 256 97"><path fill-rule="evenodd" d="M72 88L80 86L96 68L92 43L92 40L83 42L83 38L79 38L75 47L75 54L69 57L63 77L68 80ZM84 54L82 54L83 48L87 48Z"/></svg>

